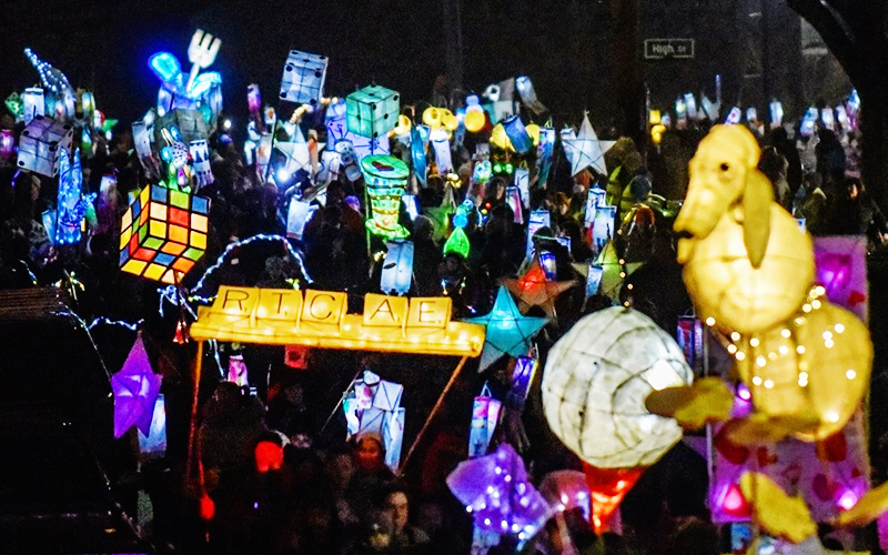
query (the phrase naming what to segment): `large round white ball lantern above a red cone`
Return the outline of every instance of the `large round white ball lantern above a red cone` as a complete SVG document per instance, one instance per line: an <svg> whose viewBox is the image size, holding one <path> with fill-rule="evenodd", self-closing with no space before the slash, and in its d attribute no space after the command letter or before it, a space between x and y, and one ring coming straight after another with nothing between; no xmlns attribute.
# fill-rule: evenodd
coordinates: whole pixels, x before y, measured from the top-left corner
<svg viewBox="0 0 888 555"><path fill-rule="evenodd" d="M583 317L549 351L543 408L553 433L586 463L648 466L682 438L682 428L650 414L645 398L693 377L675 340L650 319L605 309Z"/></svg>

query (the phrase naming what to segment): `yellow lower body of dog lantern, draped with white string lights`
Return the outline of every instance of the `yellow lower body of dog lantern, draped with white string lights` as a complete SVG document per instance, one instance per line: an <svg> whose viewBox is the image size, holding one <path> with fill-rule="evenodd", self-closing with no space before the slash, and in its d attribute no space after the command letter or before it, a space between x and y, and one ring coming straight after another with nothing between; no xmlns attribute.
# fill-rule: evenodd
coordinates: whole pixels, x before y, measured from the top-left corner
<svg viewBox="0 0 888 555"><path fill-rule="evenodd" d="M850 312L816 293L796 317L728 346L753 403L769 416L813 417L797 434L823 440L845 426L869 385L872 344Z"/></svg>

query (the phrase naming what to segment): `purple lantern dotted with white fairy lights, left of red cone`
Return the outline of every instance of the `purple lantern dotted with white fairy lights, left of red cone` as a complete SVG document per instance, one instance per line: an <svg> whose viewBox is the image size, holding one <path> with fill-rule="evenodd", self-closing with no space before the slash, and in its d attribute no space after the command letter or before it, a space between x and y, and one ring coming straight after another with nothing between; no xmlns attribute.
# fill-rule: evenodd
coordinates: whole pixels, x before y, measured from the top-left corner
<svg viewBox="0 0 888 555"><path fill-rule="evenodd" d="M527 482L524 461L512 445L464 461L447 476L447 487L465 505L475 526L501 535L532 538L552 515L546 500Z"/></svg>

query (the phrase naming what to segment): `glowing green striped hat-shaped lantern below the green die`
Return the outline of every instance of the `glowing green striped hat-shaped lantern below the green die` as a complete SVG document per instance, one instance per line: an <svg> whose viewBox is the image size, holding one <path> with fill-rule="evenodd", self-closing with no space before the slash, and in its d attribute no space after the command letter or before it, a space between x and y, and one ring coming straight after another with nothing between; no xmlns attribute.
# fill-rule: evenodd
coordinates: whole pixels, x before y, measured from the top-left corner
<svg viewBox="0 0 888 555"><path fill-rule="evenodd" d="M387 154L371 154L361 160L361 171L364 173L372 211L366 221L367 230L384 239L408 236L410 232L397 223L401 196L410 176L407 164Z"/></svg>

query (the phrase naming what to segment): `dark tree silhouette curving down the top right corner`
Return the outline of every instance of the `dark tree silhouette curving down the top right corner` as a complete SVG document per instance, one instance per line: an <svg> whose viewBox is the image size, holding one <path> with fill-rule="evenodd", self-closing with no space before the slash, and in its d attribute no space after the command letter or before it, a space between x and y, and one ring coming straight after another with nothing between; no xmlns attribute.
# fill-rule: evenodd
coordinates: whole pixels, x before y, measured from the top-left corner
<svg viewBox="0 0 888 555"><path fill-rule="evenodd" d="M888 206L888 2L786 0L823 37L860 94L864 181Z"/></svg>

